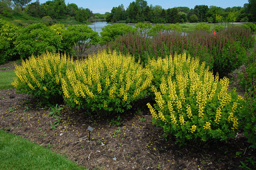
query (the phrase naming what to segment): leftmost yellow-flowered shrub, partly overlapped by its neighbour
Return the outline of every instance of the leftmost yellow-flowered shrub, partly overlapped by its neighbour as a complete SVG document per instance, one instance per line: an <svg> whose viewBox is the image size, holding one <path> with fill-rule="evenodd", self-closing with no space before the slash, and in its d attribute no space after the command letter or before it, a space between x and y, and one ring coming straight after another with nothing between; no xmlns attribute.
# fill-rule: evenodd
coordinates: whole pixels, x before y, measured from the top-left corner
<svg viewBox="0 0 256 170"><path fill-rule="evenodd" d="M31 56L15 66L17 78L12 85L17 91L38 97L42 103L60 102L63 100L61 79L72 65L73 59L60 53Z"/></svg>

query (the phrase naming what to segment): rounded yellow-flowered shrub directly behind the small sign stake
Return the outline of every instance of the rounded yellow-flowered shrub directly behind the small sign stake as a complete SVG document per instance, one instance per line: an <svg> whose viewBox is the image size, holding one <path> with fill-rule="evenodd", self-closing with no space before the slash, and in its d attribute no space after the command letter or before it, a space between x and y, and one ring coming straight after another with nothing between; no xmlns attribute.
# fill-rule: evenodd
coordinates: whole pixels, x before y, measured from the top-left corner
<svg viewBox="0 0 256 170"><path fill-rule="evenodd" d="M104 50L68 69L62 88L70 106L108 115L122 113L131 102L145 97L151 80L133 57Z"/></svg>

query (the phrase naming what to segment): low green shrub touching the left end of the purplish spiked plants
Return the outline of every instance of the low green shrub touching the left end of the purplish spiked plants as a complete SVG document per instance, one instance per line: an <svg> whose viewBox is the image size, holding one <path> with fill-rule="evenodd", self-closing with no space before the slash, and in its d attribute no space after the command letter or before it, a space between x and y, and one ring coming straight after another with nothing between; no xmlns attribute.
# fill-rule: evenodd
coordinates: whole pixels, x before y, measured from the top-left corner
<svg viewBox="0 0 256 170"><path fill-rule="evenodd" d="M127 32L134 32L136 28L133 28L127 24L112 24L102 28L101 44L106 44L110 41L115 40L117 37L126 34Z"/></svg>

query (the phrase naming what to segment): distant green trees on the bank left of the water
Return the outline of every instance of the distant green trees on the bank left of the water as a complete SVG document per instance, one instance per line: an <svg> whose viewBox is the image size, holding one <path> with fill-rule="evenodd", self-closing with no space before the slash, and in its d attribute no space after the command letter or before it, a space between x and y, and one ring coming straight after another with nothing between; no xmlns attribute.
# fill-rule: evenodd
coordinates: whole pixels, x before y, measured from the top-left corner
<svg viewBox="0 0 256 170"><path fill-rule="evenodd" d="M12 17L26 13L33 17L50 17L53 20L74 17L79 22L94 19L104 19L102 15L94 14L88 8L79 8L75 3L65 3L65 0L52 0L40 3L39 0L0 0L0 15Z"/></svg>

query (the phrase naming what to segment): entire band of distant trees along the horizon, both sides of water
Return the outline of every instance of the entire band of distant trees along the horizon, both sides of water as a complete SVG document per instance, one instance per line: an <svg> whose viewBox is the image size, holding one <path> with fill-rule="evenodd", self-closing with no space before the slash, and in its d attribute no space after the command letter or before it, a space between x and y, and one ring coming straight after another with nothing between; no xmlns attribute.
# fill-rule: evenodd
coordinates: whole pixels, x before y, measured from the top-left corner
<svg viewBox="0 0 256 170"><path fill-rule="evenodd" d="M40 3L39 0L0 0L0 15L13 17L26 15L44 18L45 20L61 20L73 17L85 23L88 20L106 19L108 22L123 23L184 23L223 21L256 21L256 0L248 0L243 7L234 6L221 8L218 6L196 5L194 9L185 6L163 9L160 5L148 5L145 0L136 0L125 9L123 5L113 7L105 15L93 13L88 8L79 8L75 3L65 3L65 0L52 0Z"/></svg>

